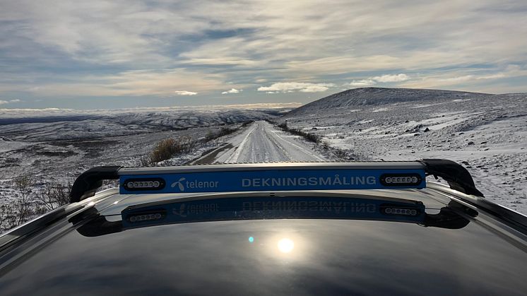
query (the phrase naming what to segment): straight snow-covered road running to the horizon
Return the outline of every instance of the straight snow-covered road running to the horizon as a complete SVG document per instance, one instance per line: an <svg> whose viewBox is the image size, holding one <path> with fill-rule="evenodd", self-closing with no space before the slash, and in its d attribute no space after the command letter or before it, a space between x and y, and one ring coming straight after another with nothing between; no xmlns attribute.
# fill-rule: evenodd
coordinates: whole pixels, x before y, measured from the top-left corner
<svg viewBox="0 0 527 296"><path fill-rule="evenodd" d="M203 163L242 163L276 161L326 161L308 144L276 129L268 122L254 122L224 146L194 161Z"/></svg>

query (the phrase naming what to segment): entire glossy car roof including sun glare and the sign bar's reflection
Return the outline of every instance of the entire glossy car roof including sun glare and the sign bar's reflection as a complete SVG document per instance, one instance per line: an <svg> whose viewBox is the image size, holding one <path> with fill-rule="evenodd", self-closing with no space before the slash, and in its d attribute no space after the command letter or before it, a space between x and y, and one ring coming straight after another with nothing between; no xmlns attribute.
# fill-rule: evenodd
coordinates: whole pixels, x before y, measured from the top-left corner
<svg viewBox="0 0 527 296"><path fill-rule="evenodd" d="M119 189L75 201L0 237L3 292L523 295L527 290L526 217L451 189L450 182L406 189L182 192L174 187L155 193L124 190L123 182L136 182L131 178L136 177L124 174ZM151 175L146 178L152 181ZM31 228L35 223L41 227ZM25 235L17 237L19 232Z"/></svg>

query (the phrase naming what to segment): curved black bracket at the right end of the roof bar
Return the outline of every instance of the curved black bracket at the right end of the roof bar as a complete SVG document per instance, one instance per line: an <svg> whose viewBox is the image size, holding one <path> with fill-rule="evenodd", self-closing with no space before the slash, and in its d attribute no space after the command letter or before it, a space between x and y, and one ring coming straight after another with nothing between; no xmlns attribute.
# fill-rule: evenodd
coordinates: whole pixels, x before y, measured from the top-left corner
<svg viewBox="0 0 527 296"><path fill-rule="evenodd" d="M485 197L475 188L474 180L465 167L452 160L425 159L420 160L425 165L425 172L434 177L442 177L449 183L451 189L464 194Z"/></svg>

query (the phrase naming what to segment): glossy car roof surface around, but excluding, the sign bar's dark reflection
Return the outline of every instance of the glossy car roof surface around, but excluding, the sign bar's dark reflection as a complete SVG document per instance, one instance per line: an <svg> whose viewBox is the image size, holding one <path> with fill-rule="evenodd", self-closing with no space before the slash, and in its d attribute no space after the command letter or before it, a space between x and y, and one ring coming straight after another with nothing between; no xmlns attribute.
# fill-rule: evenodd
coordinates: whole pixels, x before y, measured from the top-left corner
<svg viewBox="0 0 527 296"><path fill-rule="evenodd" d="M436 186L441 188L164 195L109 189L94 196L89 209L28 242L27 255L8 272L2 269L0 283L6 294L42 295L523 294L527 253L522 238L500 232L507 225L485 212L468 211ZM283 219L261 211L249 220L97 232L105 223L122 222L130 206L264 197L422 201L430 215L448 208L463 223L425 226L331 215ZM284 242L292 244L290 251L280 249Z"/></svg>

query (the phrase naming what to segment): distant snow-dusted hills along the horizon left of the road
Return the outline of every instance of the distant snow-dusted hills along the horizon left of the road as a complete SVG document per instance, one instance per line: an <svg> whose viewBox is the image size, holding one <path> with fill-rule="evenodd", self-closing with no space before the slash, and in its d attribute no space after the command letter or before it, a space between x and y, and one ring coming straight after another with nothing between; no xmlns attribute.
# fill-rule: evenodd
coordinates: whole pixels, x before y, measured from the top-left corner
<svg viewBox="0 0 527 296"><path fill-rule="evenodd" d="M14 112L13 112L14 113ZM1 117L0 136L16 141L56 141L177 131L271 119L274 110L187 109L155 112L98 112L52 117ZM16 114L15 114L16 115ZM1 147L0 147L1 149ZM1 158L0 158L1 160ZM1 162L0 162L1 163Z"/></svg>

